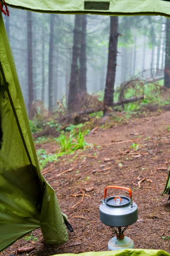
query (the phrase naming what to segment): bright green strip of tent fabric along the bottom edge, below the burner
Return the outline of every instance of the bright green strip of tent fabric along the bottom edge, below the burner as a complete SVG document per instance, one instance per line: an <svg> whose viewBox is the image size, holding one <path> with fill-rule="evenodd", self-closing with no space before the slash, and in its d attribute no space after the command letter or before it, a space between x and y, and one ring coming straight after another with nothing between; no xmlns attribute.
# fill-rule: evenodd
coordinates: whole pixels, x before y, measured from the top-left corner
<svg viewBox="0 0 170 256"><path fill-rule="evenodd" d="M116 251L104 251L104 252L88 252L88 253L66 253L56 254L53 256L170 256L169 253L164 250L150 250L150 249L125 249Z"/></svg>

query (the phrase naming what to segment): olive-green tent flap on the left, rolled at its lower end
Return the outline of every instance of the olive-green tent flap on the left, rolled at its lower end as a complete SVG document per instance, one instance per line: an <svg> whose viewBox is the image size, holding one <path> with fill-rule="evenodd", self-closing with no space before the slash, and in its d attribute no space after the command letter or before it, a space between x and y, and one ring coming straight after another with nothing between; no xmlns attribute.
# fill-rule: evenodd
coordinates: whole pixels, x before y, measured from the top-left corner
<svg viewBox="0 0 170 256"><path fill-rule="evenodd" d="M0 251L39 227L46 243L64 243L68 240L66 216L40 172L1 13L0 64Z"/></svg>

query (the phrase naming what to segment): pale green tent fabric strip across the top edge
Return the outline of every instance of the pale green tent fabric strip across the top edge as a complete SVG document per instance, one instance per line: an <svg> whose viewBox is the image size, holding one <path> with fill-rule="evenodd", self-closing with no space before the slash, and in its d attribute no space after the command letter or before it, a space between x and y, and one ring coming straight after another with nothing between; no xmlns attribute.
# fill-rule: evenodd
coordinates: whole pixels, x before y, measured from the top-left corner
<svg viewBox="0 0 170 256"><path fill-rule="evenodd" d="M167 0L6 0L6 3L36 12L170 17L170 2Z"/></svg>

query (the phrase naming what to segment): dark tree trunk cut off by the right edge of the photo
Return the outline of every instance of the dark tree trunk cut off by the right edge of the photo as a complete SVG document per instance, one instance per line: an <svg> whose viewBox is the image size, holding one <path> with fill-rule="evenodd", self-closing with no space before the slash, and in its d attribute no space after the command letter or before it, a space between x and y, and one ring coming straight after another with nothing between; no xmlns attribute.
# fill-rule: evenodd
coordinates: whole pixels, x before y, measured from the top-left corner
<svg viewBox="0 0 170 256"><path fill-rule="evenodd" d="M170 18L166 23L164 86L170 88Z"/></svg>

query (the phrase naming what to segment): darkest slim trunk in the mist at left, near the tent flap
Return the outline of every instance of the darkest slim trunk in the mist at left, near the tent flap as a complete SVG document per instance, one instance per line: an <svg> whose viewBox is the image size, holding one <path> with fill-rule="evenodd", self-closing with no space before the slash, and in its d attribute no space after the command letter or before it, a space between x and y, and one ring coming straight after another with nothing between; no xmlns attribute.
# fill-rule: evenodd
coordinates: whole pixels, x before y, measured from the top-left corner
<svg viewBox="0 0 170 256"><path fill-rule="evenodd" d="M34 113L31 113L31 104L34 100L32 58L32 13L27 12L28 111L30 119L34 117Z"/></svg>

